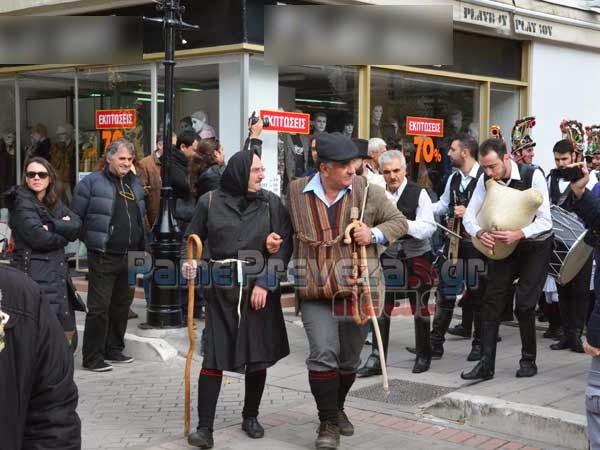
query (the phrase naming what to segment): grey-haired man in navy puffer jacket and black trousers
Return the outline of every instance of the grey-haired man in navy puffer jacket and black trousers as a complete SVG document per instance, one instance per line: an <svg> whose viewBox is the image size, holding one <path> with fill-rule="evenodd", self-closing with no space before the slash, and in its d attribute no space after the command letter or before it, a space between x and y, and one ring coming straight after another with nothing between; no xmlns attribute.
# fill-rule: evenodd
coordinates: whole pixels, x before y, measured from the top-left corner
<svg viewBox="0 0 600 450"><path fill-rule="evenodd" d="M88 313L83 334L83 367L112 370L130 363L123 354L127 313L134 286L128 282L129 251L144 249L144 188L133 175L135 149L127 139L112 142L104 169L81 180L73 191L71 209L79 215L81 240L88 250Z"/></svg>

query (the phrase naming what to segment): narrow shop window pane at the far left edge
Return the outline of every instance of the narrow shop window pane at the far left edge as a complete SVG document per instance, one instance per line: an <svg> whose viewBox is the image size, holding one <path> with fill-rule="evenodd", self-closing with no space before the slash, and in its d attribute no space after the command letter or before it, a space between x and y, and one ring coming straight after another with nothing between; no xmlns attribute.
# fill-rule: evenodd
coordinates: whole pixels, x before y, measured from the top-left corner
<svg viewBox="0 0 600 450"><path fill-rule="evenodd" d="M15 81L0 79L0 193L17 182Z"/></svg>

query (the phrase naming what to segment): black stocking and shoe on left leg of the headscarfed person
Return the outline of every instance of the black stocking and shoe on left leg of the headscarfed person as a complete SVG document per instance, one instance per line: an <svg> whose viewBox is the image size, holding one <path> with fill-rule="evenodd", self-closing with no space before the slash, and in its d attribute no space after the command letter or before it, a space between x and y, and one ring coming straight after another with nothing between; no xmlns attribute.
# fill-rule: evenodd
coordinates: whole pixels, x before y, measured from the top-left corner
<svg viewBox="0 0 600 450"><path fill-rule="evenodd" d="M203 449L213 448L213 424L223 373L202 369L198 378L198 429L188 436L188 444Z"/></svg>

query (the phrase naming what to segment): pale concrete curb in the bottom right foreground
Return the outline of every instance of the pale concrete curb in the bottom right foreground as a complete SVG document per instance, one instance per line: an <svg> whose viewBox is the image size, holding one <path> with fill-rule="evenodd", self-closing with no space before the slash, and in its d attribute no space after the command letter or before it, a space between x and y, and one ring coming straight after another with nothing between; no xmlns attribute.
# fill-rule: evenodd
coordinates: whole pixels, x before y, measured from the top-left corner
<svg viewBox="0 0 600 450"><path fill-rule="evenodd" d="M421 406L430 415L573 450L587 450L586 418L544 406L452 392Z"/></svg>

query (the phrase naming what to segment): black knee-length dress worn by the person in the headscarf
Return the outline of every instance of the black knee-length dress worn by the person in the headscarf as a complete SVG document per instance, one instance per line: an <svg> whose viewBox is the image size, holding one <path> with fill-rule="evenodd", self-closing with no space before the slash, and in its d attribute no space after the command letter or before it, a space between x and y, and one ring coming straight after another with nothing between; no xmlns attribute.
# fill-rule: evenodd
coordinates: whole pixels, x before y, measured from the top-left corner
<svg viewBox="0 0 600 450"><path fill-rule="evenodd" d="M278 253L268 255L265 241L271 231L278 233L284 242ZM259 198L244 211L240 210L236 197L221 189L203 195L198 201L188 233L198 234L205 249L215 260L243 259L244 255L240 252L252 252L248 255L250 258L267 258L271 264L279 261L279 270L285 272L292 253L289 215L279 197L268 191L261 191ZM221 266L209 264L215 272L212 283L204 286L207 304L205 368L255 370L269 367L289 354L280 303L281 292L275 271L259 270L257 266L245 265L244 271L248 277L238 328L239 290L235 265L225 267L227 274L224 273L223 278L219 279L216 270ZM228 273L234 274L233 279ZM255 284L269 290L267 305L260 310L250 306L250 294Z"/></svg>

